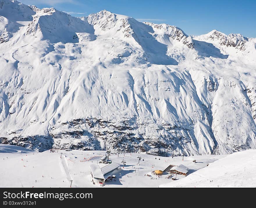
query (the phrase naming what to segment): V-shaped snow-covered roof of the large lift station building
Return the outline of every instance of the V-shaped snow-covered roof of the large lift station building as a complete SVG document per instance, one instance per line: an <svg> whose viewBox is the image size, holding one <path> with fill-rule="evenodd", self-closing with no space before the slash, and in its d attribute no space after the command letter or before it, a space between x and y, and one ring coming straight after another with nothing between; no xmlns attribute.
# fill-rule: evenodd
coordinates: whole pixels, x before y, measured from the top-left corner
<svg viewBox="0 0 256 208"><path fill-rule="evenodd" d="M112 172L113 170L115 170L119 166L120 165L118 163L106 164L103 167L99 167L97 164L91 164L90 165L90 170L93 174L93 177L106 179L107 178L106 176L110 176L108 173ZM108 174L108 175L106 175L106 174Z"/></svg>

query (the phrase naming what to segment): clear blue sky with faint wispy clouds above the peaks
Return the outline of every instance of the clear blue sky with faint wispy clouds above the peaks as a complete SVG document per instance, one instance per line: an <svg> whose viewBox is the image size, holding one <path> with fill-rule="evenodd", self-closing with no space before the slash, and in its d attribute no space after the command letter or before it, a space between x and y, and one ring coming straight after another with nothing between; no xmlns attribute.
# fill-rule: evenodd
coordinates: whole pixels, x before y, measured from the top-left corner
<svg viewBox="0 0 256 208"><path fill-rule="evenodd" d="M54 7L81 17L101 10L127 15L140 22L166 23L188 35L216 29L225 34L256 37L256 0L18 0L39 8Z"/></svg>

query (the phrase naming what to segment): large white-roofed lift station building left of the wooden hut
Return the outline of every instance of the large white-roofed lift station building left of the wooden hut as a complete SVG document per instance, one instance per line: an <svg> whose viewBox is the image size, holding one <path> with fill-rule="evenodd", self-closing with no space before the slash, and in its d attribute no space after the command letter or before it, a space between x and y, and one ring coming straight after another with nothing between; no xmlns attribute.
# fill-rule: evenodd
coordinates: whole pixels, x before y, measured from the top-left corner
<svg viewBox="0 0 256 208"><path fill-rule="evenodd" d="M108 177L112 176L112 173L115 170L120 169L120 164L118 163L108 163L108 164L91 164L90 165L90 174L92 180L95 184L99 184L101 186L104 185L105 180Z"/></svg>

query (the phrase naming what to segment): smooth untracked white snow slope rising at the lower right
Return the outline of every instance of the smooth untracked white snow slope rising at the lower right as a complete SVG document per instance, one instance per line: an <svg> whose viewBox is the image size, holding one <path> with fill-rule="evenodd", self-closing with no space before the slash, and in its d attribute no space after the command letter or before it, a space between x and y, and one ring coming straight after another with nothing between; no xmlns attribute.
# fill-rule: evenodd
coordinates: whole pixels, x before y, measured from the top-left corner
<svg viewBox="0 0 256 208"><path fill-rule="evenodd" d="M256 150L235 152L160 187L256 187Z"/></svg>

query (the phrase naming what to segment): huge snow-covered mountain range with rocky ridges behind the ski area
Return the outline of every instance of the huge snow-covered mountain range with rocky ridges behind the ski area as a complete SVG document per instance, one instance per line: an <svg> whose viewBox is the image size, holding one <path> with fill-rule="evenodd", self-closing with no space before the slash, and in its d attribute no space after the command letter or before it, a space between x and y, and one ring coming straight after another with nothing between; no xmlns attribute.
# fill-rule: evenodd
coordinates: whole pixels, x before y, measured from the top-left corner
<svg viewBox="0 0 256 208"><path fill-rule="evenodd" d="M256 148L256 41L0 0L0 143L219 154Z"/></svg>

